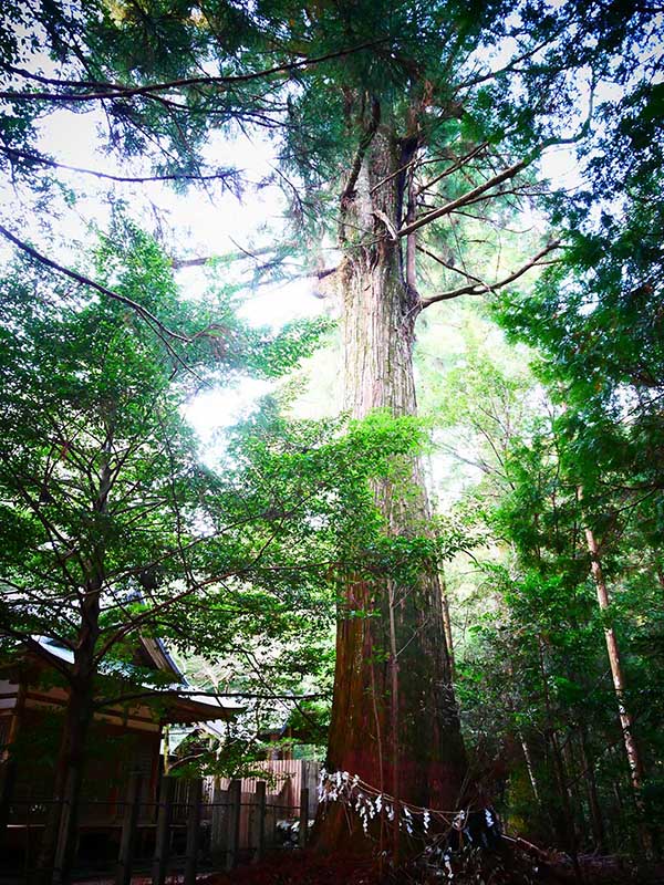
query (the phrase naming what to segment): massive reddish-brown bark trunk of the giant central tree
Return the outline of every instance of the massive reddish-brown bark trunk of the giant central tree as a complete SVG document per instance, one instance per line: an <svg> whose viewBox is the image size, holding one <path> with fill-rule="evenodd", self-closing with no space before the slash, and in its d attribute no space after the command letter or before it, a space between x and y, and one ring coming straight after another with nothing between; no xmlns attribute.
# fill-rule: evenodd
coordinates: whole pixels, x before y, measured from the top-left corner
<svg viewBox="0 0 664 885"><path fill-rule="evenodd" d="M418 302L406 279L407 259L393 236L404 205L405 179L397 170L413 149L377 127L342 198L345 404L359 418L375 408L396 416L417 409L413 344ZM408 472L407 494L395 497L387 482L375 489L394 535L422 532L428 517L421 464L414 460ZM434 570L416 586L388 581L346 585L329 763L401 801L459 806L466 762ZM346 820L341 810L330 809L320 841L332 846L347 839Z"/></svg>

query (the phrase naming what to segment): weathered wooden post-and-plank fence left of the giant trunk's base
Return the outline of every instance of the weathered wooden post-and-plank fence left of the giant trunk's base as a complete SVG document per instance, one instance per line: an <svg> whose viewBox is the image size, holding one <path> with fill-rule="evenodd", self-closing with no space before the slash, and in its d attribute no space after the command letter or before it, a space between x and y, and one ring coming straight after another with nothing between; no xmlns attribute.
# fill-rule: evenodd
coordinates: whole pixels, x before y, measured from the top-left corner
<svg viewBox="0 0 664 885"><path fill-rule="evenodd" d="M146 801L142 775L132 775L126 795L115 802L114 823L103 827L103 861L96 853L91 865L85 840L92 831L81 827L76 874L114 877L116 885L128 885L132 875L142 874L152 876L154 885L164 885L168 875L177 873L184 875L185 885L194 885L197 872L257 862L267 850L284 846L284 836L290 847L304 846L315 813L312 784L318 763L276 760L263 766L266 780L163 777L157 801ZM90 810L82 812L84 819ZM33 841L42 826L40 822L33 827ZM30 825L24 829L24 866L17 873L23 872L28 881L37 872L29 868L37 852L30 850ZM58 879L59 871L54 872Z"/></svg>

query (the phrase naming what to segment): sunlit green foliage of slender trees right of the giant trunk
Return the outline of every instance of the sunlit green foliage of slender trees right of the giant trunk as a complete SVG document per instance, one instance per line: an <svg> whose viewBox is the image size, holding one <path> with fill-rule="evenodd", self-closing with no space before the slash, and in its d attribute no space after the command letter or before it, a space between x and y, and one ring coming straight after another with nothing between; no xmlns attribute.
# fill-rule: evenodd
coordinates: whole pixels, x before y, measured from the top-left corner
<svg viewBox="0 0 664 885"><path fill-rule="evenodd" d="M601 267L603 256L595 259ZM559 272L566 283L556 289ZM645 482L658 467L646 461L647 450L631 448L632 441L627 447L635 414L616 424L602 413L611 407L611 398L603 397L611 367L608 360L604 373L602 346L618 342L600 324L600 305L578 323L596 324L594 377L605 385L602 392L588 383L588 364L572 369L563 360L572 311L561 316L552 310L546 317L540 312L544 291L557 299L558 310L572 303L571 296L567 301L572 285L582 292L575 272L570 250L562 269L548 274L535 295L525 292L518 302L512 295L497 305L512 340L516 330L531 347L540 345L539 353L511 350L486 317L456 308L456 337L450 347L438 344L444 374L432 378L426 404L444 428L435 438L450 460L439 493L452 489L461 506L470 506L476 537L484 539L473 548L479 568L468 573L460 556L446 569L456 690L474 770L505 790L504 808L521 832L550 840L553 831L564 843L569 827L552 749L558 741L581 844L598 839L587 791L590 764L605 819L604 845L613 846L619 842L611 821L620 820L623 836L635 843L636 818L625 800L629 770L604 644L609 626L622 652L623 701L634 716L649 772L644 796L656 796L658 789L662 745L653 717L661 716L663 697L662 570L652 533L658 494ZM606 308L606 325L612 315ZM436 334L440 341L440 326L429 324L424 346L432 354ZM459 491L455 464L468 461L478 469ZM590 572L589 524L611 594L606 612L598 607Z"/></svg>

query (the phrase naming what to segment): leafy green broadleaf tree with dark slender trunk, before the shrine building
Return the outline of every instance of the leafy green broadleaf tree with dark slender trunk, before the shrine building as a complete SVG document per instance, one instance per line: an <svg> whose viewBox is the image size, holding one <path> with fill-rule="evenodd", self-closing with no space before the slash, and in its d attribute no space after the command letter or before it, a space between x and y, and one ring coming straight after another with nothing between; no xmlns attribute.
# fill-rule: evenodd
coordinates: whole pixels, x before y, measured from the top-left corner
<svg viewBox="0 0 664 885"><path fill-rule="evenodd" d="M112 242L93 257L100 279L112 275L159 323L200 327L154 240L118 220ZM175 351L121 300L39 262L20 261L3 285L0 645L6 660L27 648L52 667L42 637L72 658L54 665L68 702L39 862L49 877L60 833L66 876L95 712L158 706L176 690L132 666L137 638L212 657L257 637L320 641L331 576L384 545L369 480L388 476L422 431L380 415L289 427L268 409L225 470L208 468L186 398L205 379L286 372L315 329L247 326L212 289L201 311L216 301L214 333Z"/></svg>

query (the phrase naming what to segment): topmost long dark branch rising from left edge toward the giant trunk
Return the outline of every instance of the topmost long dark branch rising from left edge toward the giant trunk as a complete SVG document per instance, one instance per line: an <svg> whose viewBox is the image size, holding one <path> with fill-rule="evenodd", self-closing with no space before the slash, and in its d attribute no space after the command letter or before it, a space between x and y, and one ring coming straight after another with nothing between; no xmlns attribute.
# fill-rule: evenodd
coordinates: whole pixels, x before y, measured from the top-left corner
<svg viewBox="0 0 664 885"><path fill-rule="evenodd" d="M288 64L279 64L274 67L268 67L263 71L255 71L249 74L236 74L229 76L191 76L185 77L183 80L172 80L166 83L152 83L147 86L127 86L122 83L95 83L92 84L82 81L81 85L91 85L93 88L96 88L97 92L89 92L89 93L58 93L58 92L12 92L3 91L0 92L0 98L8 98L9 101L44 101L44 102L91 102L91 101L101 101L103 98L132 98L134 96L149 96L154 95L155 93L159 92L169 92L173 90L179 90L187 86L215 86L215 85L235 85L237 83L248 83L252 80L262 80L264 77L270 77L273 74L284 74L291 71L298 71L307 67L311 67L315 64L321 64L322 62L332 61L333 59L341 59L344 55L350 55L354 52L361 52L365 49L372 49L373 46L378 45L380 43L384 43L386 38L382 38L381 40L372 40L369 43L361 43L359 46L353 46L352 49L342 49L338 50L336 52L328 52L325 55L319 55L314 59L302 59L298 62L289 62ZM9 70L11 73L19 74L20 76L28 77L31 80L40 80L42 83L46 83L49 85L64 85L68 88L76 87L75 81L59 81L52 80L49 77L39 77L35 74L32 74L30 71L19 67L9 67L6 66L6 70Z"/></svg>

